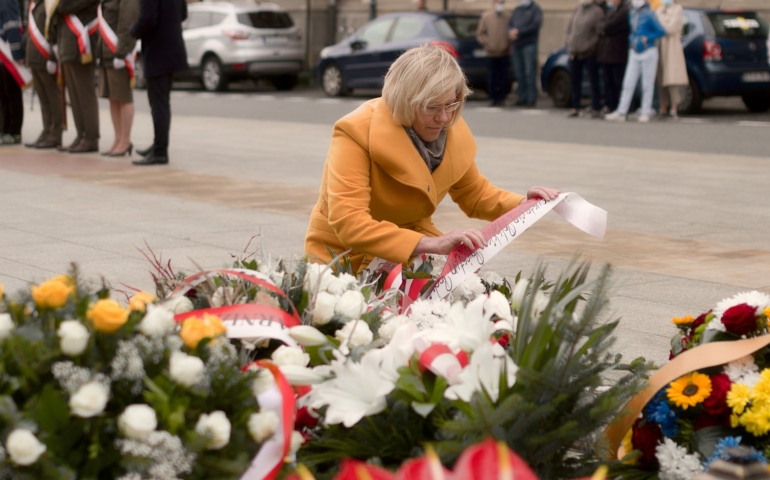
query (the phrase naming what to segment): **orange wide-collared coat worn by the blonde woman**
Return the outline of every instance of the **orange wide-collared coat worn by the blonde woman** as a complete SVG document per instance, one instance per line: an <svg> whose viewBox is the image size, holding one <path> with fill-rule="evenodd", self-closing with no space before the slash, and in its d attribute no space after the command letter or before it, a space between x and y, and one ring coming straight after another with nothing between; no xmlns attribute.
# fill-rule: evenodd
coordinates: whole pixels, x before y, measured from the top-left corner
<svg viewBox="0 0 770 480"><path fill-rule="evenodd" d="M352 249L356 271L374 257L408 264L423 236L442 234L431 215L447 193L472 218L494 220L516 207L524 197L493 186L475 156L476 142L460 118L431 174L385 102L364 103L334 125L305 254L326 263L327 247L338 254Z"/></svg>

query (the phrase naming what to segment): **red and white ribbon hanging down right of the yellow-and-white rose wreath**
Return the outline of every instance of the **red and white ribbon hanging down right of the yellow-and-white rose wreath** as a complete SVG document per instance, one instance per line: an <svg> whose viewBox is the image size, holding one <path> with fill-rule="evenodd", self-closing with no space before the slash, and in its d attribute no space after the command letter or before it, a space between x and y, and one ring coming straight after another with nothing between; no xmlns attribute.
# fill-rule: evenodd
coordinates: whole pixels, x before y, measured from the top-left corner
<svg viewBox="0 0 770 480"><path fill-rule="evenodd" d="M280 423L273 436L262 444L257 456L241 476L241 480L273 480L278 477L284 458L291 448L297 402L294 398L294 390L274 363L258 360L256 364L268 369L275 379L275 385L257 395L260 411L275 412Z"/></svg>

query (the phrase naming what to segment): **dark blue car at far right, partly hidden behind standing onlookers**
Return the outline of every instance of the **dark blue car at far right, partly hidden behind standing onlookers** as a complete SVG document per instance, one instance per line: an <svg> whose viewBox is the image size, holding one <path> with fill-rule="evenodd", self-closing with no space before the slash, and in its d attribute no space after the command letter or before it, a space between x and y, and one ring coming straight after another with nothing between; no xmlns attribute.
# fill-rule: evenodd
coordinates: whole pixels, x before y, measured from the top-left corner
<svg viewBox="0 0 770 480"><path fill-rule="evenodd" d="M682 46L689 85L682 89L679 111L695 113L706 98L736 95L752 112L770 110L767 41L768 25L756 12L685 8ZM540 80L556 106L569 106L572 87L566 47L548 57ZM586 82L582 94L588 96Z"/></svg>

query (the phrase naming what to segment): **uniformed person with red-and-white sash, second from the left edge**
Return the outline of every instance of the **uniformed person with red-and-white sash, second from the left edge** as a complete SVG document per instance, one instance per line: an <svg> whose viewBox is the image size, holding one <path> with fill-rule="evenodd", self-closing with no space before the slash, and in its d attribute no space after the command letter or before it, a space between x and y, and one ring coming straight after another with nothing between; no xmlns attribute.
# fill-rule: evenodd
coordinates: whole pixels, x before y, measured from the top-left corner
<svg viewBox="0 0 770 480"><path fill-rule="evenodd" d="M56 84L56 57L51 44L43 35L45 18L45 2L30 2L25 58L27 66L32 70L40 114L43 116L43 131L37 140L25 143L24 146L41 149L60 147L62 136L62 105L61 92ZM52 32L49 32L49 36L56 37Z"/></svg>

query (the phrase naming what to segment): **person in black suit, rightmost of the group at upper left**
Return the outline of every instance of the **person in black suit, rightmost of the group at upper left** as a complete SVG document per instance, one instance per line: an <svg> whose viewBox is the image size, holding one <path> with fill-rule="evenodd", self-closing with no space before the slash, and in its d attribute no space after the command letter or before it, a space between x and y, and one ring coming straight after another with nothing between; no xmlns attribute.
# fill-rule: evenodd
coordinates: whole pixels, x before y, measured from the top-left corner
<svg viewBox="0 0 770 480"><path fill-rule="evenodd" d="M144 77L150 100L155 141L134 165L168 163L168 135L171 128L171 80L174 72L187 70L187 52L182 39L182 22L187 19L185 0L141 0L139 19L131 35L142 41Z"/></svg>

